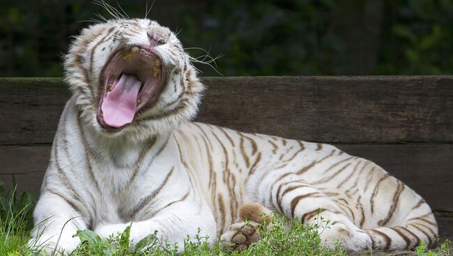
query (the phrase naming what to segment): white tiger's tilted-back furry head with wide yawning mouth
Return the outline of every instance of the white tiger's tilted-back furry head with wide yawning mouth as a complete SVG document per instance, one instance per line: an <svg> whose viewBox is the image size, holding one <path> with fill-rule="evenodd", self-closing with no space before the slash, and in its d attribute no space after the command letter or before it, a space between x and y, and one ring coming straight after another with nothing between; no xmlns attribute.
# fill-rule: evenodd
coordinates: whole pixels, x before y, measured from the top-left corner
<svg viewBox="0 0 453 256"><path fill-rule="evenodd" d="M64 68L84 125L107 138L167 133L194 117L204 90L175 33L149 19L83 29Z"/></svg>

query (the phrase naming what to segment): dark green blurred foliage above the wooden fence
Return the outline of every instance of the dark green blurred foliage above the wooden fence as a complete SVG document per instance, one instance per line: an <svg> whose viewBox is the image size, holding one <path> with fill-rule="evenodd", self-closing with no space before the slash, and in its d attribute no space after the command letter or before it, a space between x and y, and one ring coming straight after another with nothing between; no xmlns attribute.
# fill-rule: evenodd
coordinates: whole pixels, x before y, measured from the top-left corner
<svg viewBox="0 0 453 256"><path fill-rule="evenodd" d="M144 17L145 0L118 2ZM110 17L91 1L0 1L0 77L61 77L94 13ZM148 17L222 54L224 75L453 74L453 0L155 0Z"/></svg>

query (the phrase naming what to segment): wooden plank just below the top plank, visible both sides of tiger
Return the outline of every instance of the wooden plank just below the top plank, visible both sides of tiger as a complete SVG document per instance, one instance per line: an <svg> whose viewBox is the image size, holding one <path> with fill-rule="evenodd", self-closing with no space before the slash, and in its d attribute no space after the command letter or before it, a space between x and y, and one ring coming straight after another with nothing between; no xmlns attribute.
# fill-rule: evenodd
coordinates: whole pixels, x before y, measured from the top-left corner
<svg viewBox="0 0 453 256"><path fill-rule="evenodd" d="M376 161L420 193L438 211L453 211L453 145L338 145ZM50 147L0 147L0 180L10 186L15 173L19 190L39 193Z"/></svg>

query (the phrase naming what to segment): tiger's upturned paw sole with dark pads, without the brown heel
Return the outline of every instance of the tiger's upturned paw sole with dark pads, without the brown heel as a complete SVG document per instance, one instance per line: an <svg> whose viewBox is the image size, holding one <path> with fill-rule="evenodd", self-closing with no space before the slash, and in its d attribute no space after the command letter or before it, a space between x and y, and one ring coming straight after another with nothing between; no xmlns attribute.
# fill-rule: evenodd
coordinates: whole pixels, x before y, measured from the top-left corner
<svg viewBox="0 0 453 256"><path fill-rule="evenodd" d="M222 234L220 241L223 246L232 250L244 250L251 243L259 240L259 231L257 227L260 223L255 221L242 221L230 225L229 230Z"/></svg>

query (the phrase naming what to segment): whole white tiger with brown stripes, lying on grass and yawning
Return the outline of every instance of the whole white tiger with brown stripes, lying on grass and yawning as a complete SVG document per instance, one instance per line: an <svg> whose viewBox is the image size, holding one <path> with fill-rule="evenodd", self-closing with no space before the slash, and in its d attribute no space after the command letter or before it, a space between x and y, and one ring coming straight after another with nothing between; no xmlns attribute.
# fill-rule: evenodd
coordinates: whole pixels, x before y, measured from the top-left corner
<svg viewBox="0 0 453 256"><path fill-rule="evenodd" d="M304 223L330 220L321 232L330 247L435 241L429 205L371 161L332 145L190 122L204 85L176 35L157 22L89 26L64 67L72 97L33 214L34 243L47 251L70 253L77 230L107 239L129 225L132 244L157 231L181 245L200 228L210 243L220 234L244 248L270 209Z"/></svg>

